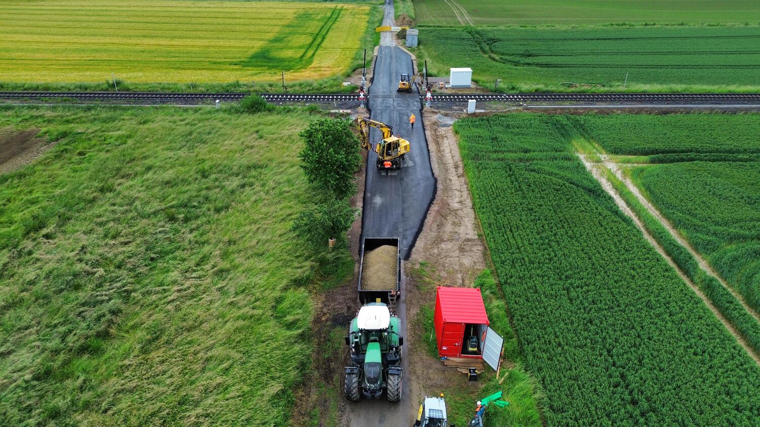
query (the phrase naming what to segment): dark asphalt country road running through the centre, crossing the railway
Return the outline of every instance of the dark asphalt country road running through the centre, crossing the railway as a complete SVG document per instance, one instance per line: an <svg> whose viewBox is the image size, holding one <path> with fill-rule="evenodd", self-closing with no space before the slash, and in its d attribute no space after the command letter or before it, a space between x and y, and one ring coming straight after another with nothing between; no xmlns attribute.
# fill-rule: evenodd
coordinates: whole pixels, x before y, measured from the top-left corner
<svg viewBox="0 0 760 427"><path fill-rule="evenodd" d="M385 2L384 25L392 25L394 20L393 1ZM401 256L407 259L411 248L420 233L427 211L435 196L435 177L432 174L425 130L423 128L420 99L417 96L400 94L396 89L401 73L413 74L410 55L394 46L393 35L382 33L380 49L375 62L374 80L369 88L369 108L372 119L390 124L394 134L410 141L411 151L404 159L399 171L392 171L385 177L375 167L377 155L370 152L367 158L367 176L364 190L362 218L363 237L399 237L401 239ZM393 95L385 98L373 98L375 95ZM414 129L409 124L409 116L416 115ZM370 130L370 140L377 141L379 130ZM403 263L402 263L403 265ZM401 319L401 330L407 337L407 306L405 297L406 280L401 275L401 298L397 302L397 314ZM404 343L403 354L410 350L410 342ZM401 366L404 369L401 402L391 403L385 398L380 400L362 399L358 403L349 403L348 411L351 427L372 427L388 425L401 427L412 425L416 407L420 402L411 396L409 359L403 356Z"/></svg>

